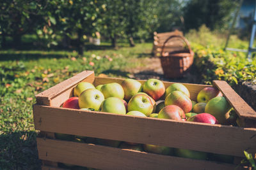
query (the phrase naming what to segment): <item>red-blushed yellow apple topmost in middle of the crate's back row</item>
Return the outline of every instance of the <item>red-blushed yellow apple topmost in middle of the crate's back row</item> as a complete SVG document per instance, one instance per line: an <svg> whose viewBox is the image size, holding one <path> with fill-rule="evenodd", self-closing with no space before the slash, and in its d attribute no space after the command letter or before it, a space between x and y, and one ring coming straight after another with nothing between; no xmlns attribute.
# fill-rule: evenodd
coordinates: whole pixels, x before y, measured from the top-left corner
<svg viewBox="0 0 256 170"><path fill-rule="evenodd" d="M150 78L143 84L143 92L147 93L155 101L160 99L165 92L164 83L160 80Z"/></svg>

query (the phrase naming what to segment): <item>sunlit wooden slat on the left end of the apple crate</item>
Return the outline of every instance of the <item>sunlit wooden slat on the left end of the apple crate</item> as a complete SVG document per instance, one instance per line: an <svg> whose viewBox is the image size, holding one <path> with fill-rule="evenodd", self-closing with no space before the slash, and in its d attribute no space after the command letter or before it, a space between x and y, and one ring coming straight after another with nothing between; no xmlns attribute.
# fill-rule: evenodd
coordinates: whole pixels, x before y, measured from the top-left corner
<svg viewBox="0 0 256 170"><path fill-rule="evenodd" d="M68 97L72 96L72 92L77 83L81 81L88 81L93 83L94 72L83 71L72 78L68 78L61 83L58 83L54 87L41 92L36 95L36 103L43 104L45 106L60 106Z"/></svg>

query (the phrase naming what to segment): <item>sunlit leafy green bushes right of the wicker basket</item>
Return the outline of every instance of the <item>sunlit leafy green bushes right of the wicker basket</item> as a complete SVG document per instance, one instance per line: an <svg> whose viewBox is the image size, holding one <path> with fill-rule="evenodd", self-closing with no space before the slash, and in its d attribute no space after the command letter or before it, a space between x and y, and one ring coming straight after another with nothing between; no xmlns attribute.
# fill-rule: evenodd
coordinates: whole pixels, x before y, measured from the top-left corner
<svg viewBox="0 0 256 170"><path fill-rule="evenodd" d="M202 83L211 83L212 80L225 80L231 85L242 81L256 83L256 58L246 59L246 53L223 51L225 37L216 35L202 26L198 32L190 31L187 34L192 41L195 52L195 66L202 74ZM248 48L248 43L232 37L230 41L234 48Z"/></svg>

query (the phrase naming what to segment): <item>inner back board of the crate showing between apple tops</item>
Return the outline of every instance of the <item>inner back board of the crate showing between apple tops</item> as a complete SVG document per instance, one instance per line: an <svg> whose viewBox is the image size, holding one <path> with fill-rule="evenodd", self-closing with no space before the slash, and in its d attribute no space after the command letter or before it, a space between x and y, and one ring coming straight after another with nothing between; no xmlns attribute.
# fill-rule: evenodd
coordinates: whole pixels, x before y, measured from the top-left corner
<svg viewBox="0 0 256 170"><path fill-rule="evenodd" d="M95 77L95 81L94 81L94 85L103 85L106 83L122 83L122 81L124 81L124 78L101 78L101 77ZM138 80L140 81L140 83L143 85L145 83L145 81L147 80ZM175 82L168 82L168 81L163 81L165 88L169 87L170 85L172 85ZM190 99L196 101L196 97L198 92L200 92L200 90L204 89L205 87L212 87L211 85L198 85L198 84L191 84L191 83L182 83L184 86L186 86L190 92Z"/></svg>

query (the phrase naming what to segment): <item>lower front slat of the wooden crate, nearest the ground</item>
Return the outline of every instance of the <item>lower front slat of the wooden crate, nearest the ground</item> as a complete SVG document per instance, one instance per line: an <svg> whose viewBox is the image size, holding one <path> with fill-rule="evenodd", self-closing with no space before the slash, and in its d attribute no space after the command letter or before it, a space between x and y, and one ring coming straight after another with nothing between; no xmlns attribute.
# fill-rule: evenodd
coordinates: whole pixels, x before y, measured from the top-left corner
<svg viewBox="0 0 256 170"><path fill-rule="evenodd" d="M234 169L233 164L184 159L108 146L37 138L39 159L97 169Z"/></svg>

